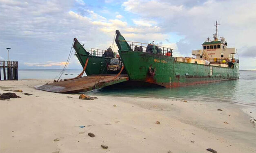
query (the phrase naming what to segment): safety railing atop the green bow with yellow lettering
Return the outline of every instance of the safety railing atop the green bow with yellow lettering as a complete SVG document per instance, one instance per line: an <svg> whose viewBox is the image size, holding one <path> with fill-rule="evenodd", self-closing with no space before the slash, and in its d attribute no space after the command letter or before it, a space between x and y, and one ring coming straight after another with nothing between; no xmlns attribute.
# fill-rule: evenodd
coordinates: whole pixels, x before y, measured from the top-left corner
<svg viewBox="0 0 256 153"><path fill-rule="evenodd" d="M152 42L152 44L147 44L142 42L130 42L126 40L123 40L122 42L127 42L131 47L132 51L148 52L152 54L172 56L173 49L155 45L154 41Z"/></svg>

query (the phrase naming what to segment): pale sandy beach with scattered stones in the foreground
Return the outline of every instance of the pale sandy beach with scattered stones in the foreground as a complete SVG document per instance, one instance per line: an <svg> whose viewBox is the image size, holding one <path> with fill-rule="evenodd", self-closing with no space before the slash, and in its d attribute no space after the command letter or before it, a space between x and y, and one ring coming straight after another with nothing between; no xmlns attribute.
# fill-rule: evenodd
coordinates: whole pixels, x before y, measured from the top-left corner
<svg viewBox="0 0 256 153"><path fill-rule="evenodd" d="M98 95L88 101L34 89L47 82L0 81L1 94L23 90L15 92L21 98L0 101L1 153L256 152L255 125L240 105Z"/></svg>

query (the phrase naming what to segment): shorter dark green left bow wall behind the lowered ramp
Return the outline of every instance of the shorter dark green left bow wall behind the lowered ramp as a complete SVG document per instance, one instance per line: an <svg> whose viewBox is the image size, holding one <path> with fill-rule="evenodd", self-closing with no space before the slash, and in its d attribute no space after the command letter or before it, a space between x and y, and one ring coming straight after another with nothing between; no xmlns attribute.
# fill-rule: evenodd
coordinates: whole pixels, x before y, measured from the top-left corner
<svg viewBox="0 0 256 153"><path fill-rule="evenodd" d="M111 58L89 55L76 38L74 38L73 48L76 50L76 57L81 63L82 68L85 67L85 62L87 58L89 58L85 70L87 76L107 73L107 66L110 63Z"/></svg>

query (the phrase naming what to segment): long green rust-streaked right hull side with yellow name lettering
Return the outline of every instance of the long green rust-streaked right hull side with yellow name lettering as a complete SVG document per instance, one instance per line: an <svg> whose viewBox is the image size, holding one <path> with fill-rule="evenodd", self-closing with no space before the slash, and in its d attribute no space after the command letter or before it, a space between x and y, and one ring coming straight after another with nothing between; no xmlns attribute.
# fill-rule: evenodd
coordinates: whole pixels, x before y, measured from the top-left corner
<svg viewBox="0 0 256 153"><path fill-rule="evenodd" d="M142 81L163 87L179 87L239 79L239 63L233 63L233 68L225 68L178 62L174 57L132 51L120 32L116 31L116 33L118 52L131 81Z"/></svg>

